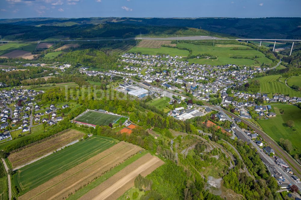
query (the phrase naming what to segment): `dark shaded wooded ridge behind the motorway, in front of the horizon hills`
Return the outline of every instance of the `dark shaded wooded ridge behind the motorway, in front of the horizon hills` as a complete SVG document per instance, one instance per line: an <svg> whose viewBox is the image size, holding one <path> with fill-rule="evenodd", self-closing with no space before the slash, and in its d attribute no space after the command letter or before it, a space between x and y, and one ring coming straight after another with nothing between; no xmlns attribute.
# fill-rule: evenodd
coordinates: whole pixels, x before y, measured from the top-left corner
<svg viewBox="0 0 301 200"><path fill-rule="evenodd" d="M23 34L24 33L24 34ZM0 35L14 35L16 40L43 40L54 36L65 38L130 38L143 35L211 35L221 36L202 29L182 26L152 26L135 24L104 23L98 25L85 24L74 26L20 26L0 24Z"/></svg>

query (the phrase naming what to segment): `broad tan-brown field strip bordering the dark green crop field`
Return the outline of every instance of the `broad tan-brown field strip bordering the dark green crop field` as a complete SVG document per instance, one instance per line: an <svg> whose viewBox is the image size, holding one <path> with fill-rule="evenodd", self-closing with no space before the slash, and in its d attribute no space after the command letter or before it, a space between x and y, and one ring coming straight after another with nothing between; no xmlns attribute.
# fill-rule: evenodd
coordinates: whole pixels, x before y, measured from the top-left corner
<svg viewBox="0 0 301 200"><path fill-rule="evenodd" d="M126 142L104 150L79 165L52 178L42 185L20 196L19 199L62 199L88 183L100 177L115 166L121 164L129 157L134 156L141 150L140 147Z"/></svg>

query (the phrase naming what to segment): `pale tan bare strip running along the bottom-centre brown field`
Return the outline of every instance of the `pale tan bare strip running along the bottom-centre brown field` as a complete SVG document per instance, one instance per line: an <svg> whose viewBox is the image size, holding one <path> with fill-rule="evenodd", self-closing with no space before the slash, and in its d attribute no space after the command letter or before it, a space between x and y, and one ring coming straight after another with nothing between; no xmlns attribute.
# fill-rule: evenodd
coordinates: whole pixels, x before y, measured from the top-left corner
<svg viewBox="0 0 301 200"><path fill-rule="evenodd" d="M147 168L151 167L152 165L155 165L157 162L159 162L160 159L157 157L152 158L150 161L147 163L141 165L116 183L114 183L112 186L108 187L105 189L103 192L98 194L93 200L103 200L108 198L110 195L112 195L115 191L117 191L119 188L127 184L130 180L138 176L141 172L145 171Z"/></svg>

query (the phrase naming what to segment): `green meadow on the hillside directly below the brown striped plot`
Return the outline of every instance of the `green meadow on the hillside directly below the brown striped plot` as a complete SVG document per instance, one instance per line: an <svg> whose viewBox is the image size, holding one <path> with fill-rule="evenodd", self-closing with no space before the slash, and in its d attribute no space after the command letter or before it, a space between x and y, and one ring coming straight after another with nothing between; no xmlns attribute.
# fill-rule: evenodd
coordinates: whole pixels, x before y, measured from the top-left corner
<svg viewBox="0 0 301 200"><path fill-rule="evenodd" d="M171 47L161 47L159 49L145 48L145 47L133 47L128 51L129 53L142 53L148 55L165 54L170 56L188 56L188 50L176 49Z"/></svg>

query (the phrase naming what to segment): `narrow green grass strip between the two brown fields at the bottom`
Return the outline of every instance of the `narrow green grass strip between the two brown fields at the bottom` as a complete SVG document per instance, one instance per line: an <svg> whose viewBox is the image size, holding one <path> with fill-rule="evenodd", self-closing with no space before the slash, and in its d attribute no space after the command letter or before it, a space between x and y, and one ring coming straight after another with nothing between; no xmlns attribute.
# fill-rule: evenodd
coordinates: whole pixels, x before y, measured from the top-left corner
<svg viewBox="0 0 301 200"><path fill-rule="evenodd" d="M147 151L144 151L142 153L138 153L135 156L127 159L125 162L123 162L120 165L114 167L112 170L108 171L107 173L105 173L104 175L102 175L101 177L96 179L94 182L92 182L89 185L87 185L86 187L78 190L75 194L69 196L68 199L69 200L78 199L79 197L83 196L85 193L89 192L91 189L95 188L96 186L98 186L99 184L101 184L102 182L104 182L105 180L107 180L108 178L113 176L114 174L116 174L118 171L122 170L127 165L131 164L132 162L134 162L138 158L141 158L142 156L144 156L147 153L148 153Z"/></svg>

